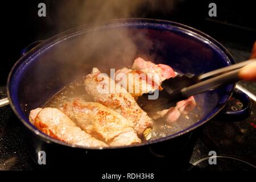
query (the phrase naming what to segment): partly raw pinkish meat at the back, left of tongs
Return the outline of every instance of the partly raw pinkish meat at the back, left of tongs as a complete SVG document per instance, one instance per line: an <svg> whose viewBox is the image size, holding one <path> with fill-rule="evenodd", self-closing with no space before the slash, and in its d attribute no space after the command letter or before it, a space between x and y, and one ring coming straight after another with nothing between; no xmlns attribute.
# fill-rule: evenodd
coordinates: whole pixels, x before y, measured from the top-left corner
<svg viewBox="0 0 256 182"><path fill-rule="evenodd" d="M143 93L161 90L162 82L171 77L175 77L171 67L164 64L156 65L141 57L134 60L131 69L122 68L115 72L115 82L126 88L135 100Z"/></svg>

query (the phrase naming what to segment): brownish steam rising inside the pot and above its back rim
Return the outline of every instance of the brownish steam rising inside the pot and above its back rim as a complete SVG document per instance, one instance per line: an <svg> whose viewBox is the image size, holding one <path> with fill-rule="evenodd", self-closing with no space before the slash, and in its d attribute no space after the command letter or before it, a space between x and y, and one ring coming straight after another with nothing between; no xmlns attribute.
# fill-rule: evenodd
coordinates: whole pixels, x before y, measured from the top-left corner
<svg viewBox="0 0 256 182"><path fill-rule="evenodd" d="M47 11L49 24L53 32L63 32L72 27L88 23L104 23L110 19L144 18L147 13L170 13L174 8L174 1L160 0L72 0L49 1ZM147 16L148 17L148 16ZM154 17L152 17L154 18ZM155 45L148 38L148 30L128 30L129 28L104 28L85 32L61 43L42 53L37 64L29 75L30 85L23 90L26 96L38 93L43 97L29 97L28 110L44 104L58 90L65 85L82 78L92 72L93 67L109 75L110 69L131 67L137 57L155 61L155 49L162 50L161 44ZM156 47L154 47L156 46ZM159 61L160 62L160 61ZM40 85L33 90L33 85ZM53 90L55 90L53 92ZM40 105L40 106L42 106Z"/></svg>

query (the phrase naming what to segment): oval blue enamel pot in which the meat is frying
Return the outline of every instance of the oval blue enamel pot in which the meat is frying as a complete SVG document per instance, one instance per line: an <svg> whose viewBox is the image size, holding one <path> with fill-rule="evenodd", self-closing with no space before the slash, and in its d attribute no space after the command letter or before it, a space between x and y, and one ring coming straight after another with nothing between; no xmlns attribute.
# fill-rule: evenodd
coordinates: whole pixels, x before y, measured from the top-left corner
<svg viewBox="0 0 256 182"><path fill-rule="evenodd" d="M93 156L120 156L122 159L139 154L147 156L155 152L152 151L153 146L163 146L167 152L174 152L175 148L180 150L186 143L184 141L191 138L192 131L224 108L234 91L232 84L199 94L196 96L197 104L201 106L198 122L175 134L138 146L101 150L72 146L48 137L28 121L30 110L43 106L61 88L85 76L93 67L109 72L110 68L131 65L138 56L195 75L235 63L227 49L210 36L183 24L164 20L113 20L97 26L73 28L53 36L17 61L7 82L10 106L25 126L28 149L35 162L39 151L46 151L49 161L60 162L67 154L73 162L79 162L92 160ZM175 155L177 153L179 151L175 151Z"/></svg>

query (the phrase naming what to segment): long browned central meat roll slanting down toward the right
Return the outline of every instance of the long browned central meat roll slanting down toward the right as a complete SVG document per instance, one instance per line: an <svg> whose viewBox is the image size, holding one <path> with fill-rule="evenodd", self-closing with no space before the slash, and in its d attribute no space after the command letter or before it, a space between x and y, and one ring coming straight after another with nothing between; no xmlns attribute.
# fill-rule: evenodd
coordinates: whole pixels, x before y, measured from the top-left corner
<svg viewBox="0 0 256 182"><path fill-rule="evenodd" d="M94 68L93 72L86 76L84 80L85 90L94 100L102 105L117 111L127 120L133 122L133 127L137 133L143 135L145 139L151 138L152 119L148 117L137 104L134 97L115 84L115 81L106 74Z"/></svg>

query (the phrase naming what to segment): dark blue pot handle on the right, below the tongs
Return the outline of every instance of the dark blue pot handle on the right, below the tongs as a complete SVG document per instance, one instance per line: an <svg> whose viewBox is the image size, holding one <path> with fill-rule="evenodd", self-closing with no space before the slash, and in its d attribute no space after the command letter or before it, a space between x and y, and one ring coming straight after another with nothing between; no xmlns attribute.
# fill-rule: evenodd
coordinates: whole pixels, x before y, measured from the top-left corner
<svg viewBox="0 0 256 182"><path fill-rule="evenodd" d="M250 97L249 97L250 96ZM251 100L255 97L241 85L236 85L236 89L230 98L228 104L221 111L220 117L229 121L240 121L247 118L251 113Z"/></svg>

